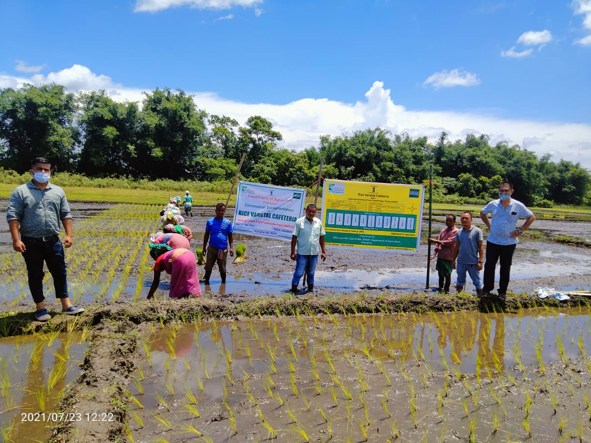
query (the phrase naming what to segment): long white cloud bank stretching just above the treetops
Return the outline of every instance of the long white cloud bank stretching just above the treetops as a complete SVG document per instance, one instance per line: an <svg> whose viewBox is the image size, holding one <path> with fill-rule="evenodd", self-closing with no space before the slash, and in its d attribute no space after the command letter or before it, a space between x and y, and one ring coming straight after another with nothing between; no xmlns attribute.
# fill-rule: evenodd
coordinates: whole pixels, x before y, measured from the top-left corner
<svg viewBox="0 0 591 443"><path fill-rule="evenodd" d="M141 89L113 83L111 77L97 75L80 65L47 76L34 75L30 79L0 74L0 87L47 82L63 84L70 91L105 89L113 100L119 102L141 102L144 99ZM384 89L383 82L374 82L365 93L365 100L356 103L307 98L285 105L269 105L234 102L211 92L191 94L199 109L227 115L238 120L241 125L252 115L264 116L283 135L282 146L290 149L316 146L321 135L337 136L381 126L392 133L406 132L413 138L427 136L431 142L442 131L447 132L452 141L463 139L468 133L477 136L485 133L489 135L492 145L501 141L509 145L519 144L540 157L551 154L553 161L564 158L574 163L580 162L583 167L591 169L589 124L509 120L483 112L408 110L394 103L391 91Z"/></svg>

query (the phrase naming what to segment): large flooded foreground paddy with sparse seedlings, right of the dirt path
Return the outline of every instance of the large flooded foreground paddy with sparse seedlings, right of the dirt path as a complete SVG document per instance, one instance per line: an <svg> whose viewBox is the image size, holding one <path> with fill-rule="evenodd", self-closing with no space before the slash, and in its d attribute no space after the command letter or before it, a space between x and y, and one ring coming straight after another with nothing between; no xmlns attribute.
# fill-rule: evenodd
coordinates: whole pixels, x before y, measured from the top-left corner
<svg viewBox="0 0 591 443"><path fill-rule="evenodd" d="M129 427L135 441L586 441L590 314L152 327Z"/></svg>

